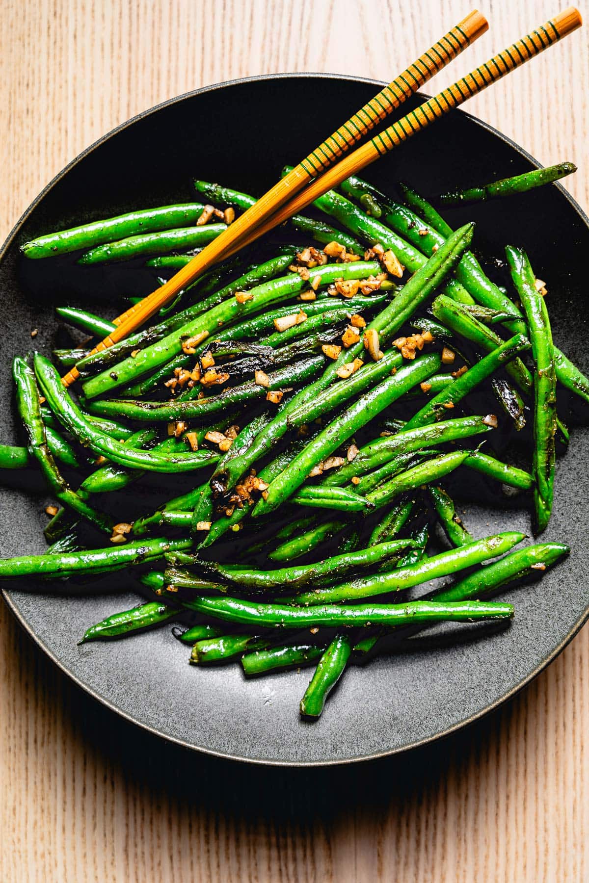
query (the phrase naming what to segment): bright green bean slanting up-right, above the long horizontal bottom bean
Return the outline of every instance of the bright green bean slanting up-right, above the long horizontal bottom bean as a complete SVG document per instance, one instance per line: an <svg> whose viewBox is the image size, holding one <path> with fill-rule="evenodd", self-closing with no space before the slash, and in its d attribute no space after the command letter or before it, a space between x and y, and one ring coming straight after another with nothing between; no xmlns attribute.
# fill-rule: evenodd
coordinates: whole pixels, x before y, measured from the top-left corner
<svg viewBox="0 0 589 883"><path fill-rule="evenodd" d="M293 597L295 604L331 604L344 600L358 600L373 597L384 592L399 592L412 585L425 583L429 579L445 577L458 570L473 567L475 564L509 552L517 543L525 540L524 533L515 531L496 533L482 540L473 540L465 546L450 549L440 555L425 558L412 567L377 573L368 577L357 577L352 582L321 588L312 592L302 592Z"/></svg>

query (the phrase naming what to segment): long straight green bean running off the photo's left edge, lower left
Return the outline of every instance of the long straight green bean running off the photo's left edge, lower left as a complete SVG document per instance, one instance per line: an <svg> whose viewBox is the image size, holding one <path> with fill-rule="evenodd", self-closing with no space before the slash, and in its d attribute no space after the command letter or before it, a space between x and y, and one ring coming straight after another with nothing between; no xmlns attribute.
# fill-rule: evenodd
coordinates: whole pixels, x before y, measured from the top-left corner
<svg viewBox="0 0 589 883"><path fill-rule="evenodd" d="M11 577L69 577L81 573L84 577L97 573L124 570L137 564L157 561L173 549L187 549L192 540L156 540L126 543L102 549L69 552L62 555L23 555L19 558L0 558L0 579ZM88 588L88 586L87 586ZM103 592L104 587L97 588Z"/></svg>

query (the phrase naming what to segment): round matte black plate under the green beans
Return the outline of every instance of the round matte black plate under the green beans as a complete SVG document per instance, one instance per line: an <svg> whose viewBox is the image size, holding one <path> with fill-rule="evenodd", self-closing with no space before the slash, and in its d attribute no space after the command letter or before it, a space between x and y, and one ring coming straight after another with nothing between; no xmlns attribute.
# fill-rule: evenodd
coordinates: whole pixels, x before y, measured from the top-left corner
<svg viewBox="0 0 589 883"><path fill-rule="evenodd" d="M191 176L260 193L284 162L295 162L352 110L374 94L369 80L285 75L210 87L155 108L111 132L71 163L34 201L4 245L0 262L4 329L0 336L3 413L11 414L11 357L35 344L49 351L57 324L53 306L125 291L129 276L92 269L57 272L52 261L19 260L18 245L35 234L117 214L133 206L190 200ZM574 157L573 157L574 158ZM489 126L458 111L382 159L367 177L387 190L407 180L424 192L525 171L536 163ZM476 246L502 257L506 243L524 245L547 280L555 339L589 371L587 219L557 186L525 197L453 213L474 218ZM34 266L33 266L34 264ZM149 291L147 276L145 291ZM41 293L42 292L42 293ZM49 293L48 293L49 292ZM120 303L120 301L119 301ZM92 307L91 307L92 308ZM6 420L3 439L15 437ZM555 513L547 540L567 541L570 559L540 583L511 593L514 623L484 639L462 630L420 638L418 648L354 668L321 720L298 718L309 673L245 681L237 665L187 665L185 648L169 628L112 644L77 646L90 623L136 602L137 596L54 597L5 592L19 622L60 668L128 720L189 747L230 758L283 764L333 764L425 743L464 726L508 698L554 659L585 622L589 605L587 498L589 434L575 428L570 451L557 465ZM47 498L38 485L0 495L2 554L40 552ZM472 498L467 474L464 495ZM530 530L528 512L468 504L476 536L500 529Z"/></svg>

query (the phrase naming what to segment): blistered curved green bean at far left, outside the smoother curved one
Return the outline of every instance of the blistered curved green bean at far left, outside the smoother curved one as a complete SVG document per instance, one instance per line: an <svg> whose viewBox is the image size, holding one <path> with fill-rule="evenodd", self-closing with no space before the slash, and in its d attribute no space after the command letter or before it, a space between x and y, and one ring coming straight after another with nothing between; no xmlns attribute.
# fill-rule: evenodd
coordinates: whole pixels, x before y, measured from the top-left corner
<svg viewBox="0 0 589 883"><path fill-rule="evenodd" d="M50 364L50 363L49 363ZM55 369L53 369L55 371ZM16 357L12 362L12 376L17 388L17 406L19 416L25 426L28 448L39 464L43 478L47 481L52 494L59 502L69 506L86 518L91 525L102 532L111 533L113 521L102 512L98 512L82 500L63 478L47 445L45 426L41 414L41 402L32 369L24 359Z"/></svg>

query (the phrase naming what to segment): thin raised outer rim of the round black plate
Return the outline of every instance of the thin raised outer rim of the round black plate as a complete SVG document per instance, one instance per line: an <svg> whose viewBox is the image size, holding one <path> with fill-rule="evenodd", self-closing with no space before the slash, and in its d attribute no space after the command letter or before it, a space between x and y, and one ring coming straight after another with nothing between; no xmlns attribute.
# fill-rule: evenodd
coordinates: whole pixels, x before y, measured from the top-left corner
<svg viewBox="0 0 589 883"><path fill-rule="evenodd" d="M115 126L113 129L106 132L106 134L102 135L99 139L93 141L88 147L85 147L78 155L74 156L74 158L64 165L64 168L57 172L57 175L51 178L49 183L42 188L42 191L37 194L34 200L28 205L25 211L20 215L19 219L12 226L8 236L5 238L2 247L0 247L0 261L4 260L4 255L11 247L14 239L17 237L20 228L23 223L26 222L26 219L31 215L39 203L45 198L45 196L53 189L55 185L66 175L67 172L72 170L74 166L76 166L81 160L83 160L87 155L91 154L96 147L100 147L107 140L112 138L118 132L124 131L127 126L132 125L138 122L145 117L149 117L154 114L156 111L161 110L163 108L170 107L173 104L177 104L179 102L183 102L188 98L193 98L194 95L203 94L206 92L214 92L217 89L223 89L231 86L238 86L245 83L254 83L261 81L268 81L273 79L336 79L336 80L344 80L352 83L361 83L374 87L383 87L386 85L384 80L372 79L370 77L356 77L351 76L349 74L339 74L339 73L326 73L326 72L283 72L283 73L273 73L273 74L258 74L251 77L239 77L237 79L227 79L218 83L211 83L208 86L203 86L198 89L192 89L188 92L175 95L173 98L166 99L163 102L159 102L155 104L153 107L148 108L147 110L142 110L140 113L136 114L134 117L130 117L125 120L125 122L120 123ZM427 100L428 96L426 93L423 93L419 90L417 93L424 100ZM536 160L534 156L529 154L524 147L521 147L517 144L516 141L512 140L509 136L503 134L498 129L495 129L495 126L490 125L485 120L481 120L479 117L475 117L473 114L468 113L463 109L457 109L457 112L460 114L464 114L465 117L469 117L475 125L481 126L483 129L486 129L487 132L492 132L495 137L502 140L505 144L512 147L517 153L523 156L528 162L531 162L532 165L540 169L542 168L540 162ZM585 211L578 204L577 200L568 192L562 184L559 182L555 182L557 189L563 194L563 196L570 203L570 207L575 210L580 220L584 223L587 230L589 230L589 217L585 214ZM479 721L488 713L495 711L496 708L502 706L505 702L508 702L511 698L517 695L517 693L525 688L529 683L533 681L535 677L540 675L540 672L547 668L551 662L553 662L560 653L563 652L564 648L570 644L573 638L578 635L578 632L583 628L587 620L589 620L589 605L585 607L584 612L578 617L577 621L573 623L570 630L567 632L563 640L555 646L555 648L544 657L543 660L533 668L532 671L525 675L521 681L519 681L514 687L511 688L510 691L504 693L500 698L495 699L494 702L488 704L479 712L471 714L469 717L465 718L463 721L459 721L456 724L453 724L451 727L442 730L439 733L436 733L434 736L425 736L422 739L418 739L412 743L403 745L398 748L389 748L385 751L373 751L370 754L362 755L359 757L352 758L340 758L340 759L332 759L332 760L306 760L306 761L297 761L297 760L275 760L268 758L251 758L251 757L242 757L237 754L229 754L226 751L218 751L215 749L211 749L202 745L195 745L190 742L186 742L184 739L181 739L177 736L170 736L170 734L163 733L162 730L157 729L155 727L150 726L149 724L138 720L136 717L133 717L132 714L125 712L122 708L115 705L109 698L106 698L101 695L98 691L94 690L89 684L85 683L78 675L75 675L70 668L67 668L65 663L59 659L56 653L49 649L49 646L45 644L42 638L36 634L33 628L26 622L26 619L23 615L20 614L19 608L12 600L11 592L18 590L11 590L2 588L1 590L2 597L7 608L11 611L11 614L14 616L15 620L19 623L20 627L26 631L26 634L29 638L32 638L34 643L41 648L43 653L49 658L49 660L57 666L64 675L76 684L79 689L87 693L88 696L93 698L95 701L99 702L102 706L105 706L109 709L110 712L114 712L120 717L122 717L125 721L129 721L134 726L147 731L152 736L159 736L166 742L174 743L182 746L183 748L190 749L191 751L198 751L202 754L207 754L210 757L215 758L223 758L225 760L233 760L240 761L242 763L253 764L255 766L283 766L283 767L321 767L321 766L344 766L348 764L357 764L363 763L369 760L377 760L380 758L391 757L397 754L403 754L405 751L413 751L416 748L422 747L424 745L437 742L439 739L445 739L451 736L453 733L457 731L469 727L475 721Z"/></svg>

